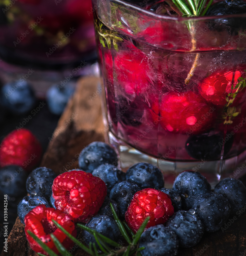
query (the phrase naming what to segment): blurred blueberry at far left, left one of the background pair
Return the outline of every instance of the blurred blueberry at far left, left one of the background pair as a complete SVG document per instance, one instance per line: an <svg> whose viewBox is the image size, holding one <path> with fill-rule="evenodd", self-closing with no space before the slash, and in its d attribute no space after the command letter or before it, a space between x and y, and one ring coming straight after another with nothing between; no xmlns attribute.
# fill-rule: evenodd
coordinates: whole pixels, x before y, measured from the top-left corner
<svg viewBox="0 0 246 256"><path fill-rule="evenodd" d="M26 81L5 84L1 89L0 102L13 114L25 114L36 102L33 89Z"/></svg>

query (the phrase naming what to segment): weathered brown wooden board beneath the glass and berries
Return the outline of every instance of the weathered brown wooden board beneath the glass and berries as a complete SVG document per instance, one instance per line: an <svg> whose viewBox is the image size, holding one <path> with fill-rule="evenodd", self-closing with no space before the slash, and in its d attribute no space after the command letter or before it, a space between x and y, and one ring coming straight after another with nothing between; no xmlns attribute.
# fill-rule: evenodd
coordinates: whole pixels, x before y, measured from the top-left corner
<svg viewBox="0 0 246 256"><path fill-rule="evenodd" d="M83 78L77 91L61 116L54 136L45 153L41 166L53 169L57 174L66 169L78 168L79 152L92 141L104 140L101 99L98 96L99 79ZM242 178L246 184L245 177ZM244 209L243 209L244 210ZM206 233L200 243L187 249L179 249L182 256L244 256L246 255L246 215L238 213L229 218L225 229ZM234 220L233 220L234 217ZM230 221L231 220L231 221ZM233 222L233 223L232 223ZM81 237L81 236L80 236ZM75 256L88 256L87 253L72 248ZM8 237L8 252L0 256L37 256L25 238L24 225L16 219Z"/></svg>

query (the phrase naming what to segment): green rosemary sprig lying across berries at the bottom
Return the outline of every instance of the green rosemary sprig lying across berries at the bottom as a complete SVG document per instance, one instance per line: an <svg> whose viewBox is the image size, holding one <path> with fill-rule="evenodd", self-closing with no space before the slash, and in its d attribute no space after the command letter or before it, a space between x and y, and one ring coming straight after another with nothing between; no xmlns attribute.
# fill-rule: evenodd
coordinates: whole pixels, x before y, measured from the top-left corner
<svg viewBox="0 0 246 256"><path fill-rule="evenodd" d="M149 217L147 217L141 227L138 229L136 234L133 233L133 231L127 226L126 223L122 223L119 217L117 216L112 204L110 204L114 219L117 223L117 226L120 229L120 232L122 236L125 238L127 245L121 246L119 243L116 243L115 241L109 239L108 237L103 236L102 234L98 233L97 231L90 229L81 223L77 223L77 226L90 232L93 234L98 247L96 246L96 243L89 244L89 248L86 247L84 244L82 244L77 238L73 237L68 231L66 231L60 224L58 224L55 220L52 220L52 222L64 233L68 238L70 238L75 244L77 244L81 249L83 249L85 252L92 256L130 256L133 254L136 254L136 256L141 256L139 253L141 250L144 249L144 247L138 248L138 241L140 239L141 234L143 233L144 229L146 228L146 225L149 221ZM35 234L31 233L31 231L27 231L31 237L40 245L40 247L47 252L50 256L58 256L54 251L52 251L45 243L43 243ZM54 242L57 250L59 253L63 256L71 255L67 249L60 243L60 241L54 236L54 234L51 234L51 239ZM111 247L118 247L118 250L111 249ZM98 248L100 251L98 251ZM44 254L38 253L40 256L44 256ZM72 256L72 255L71 255Z"/></svg>

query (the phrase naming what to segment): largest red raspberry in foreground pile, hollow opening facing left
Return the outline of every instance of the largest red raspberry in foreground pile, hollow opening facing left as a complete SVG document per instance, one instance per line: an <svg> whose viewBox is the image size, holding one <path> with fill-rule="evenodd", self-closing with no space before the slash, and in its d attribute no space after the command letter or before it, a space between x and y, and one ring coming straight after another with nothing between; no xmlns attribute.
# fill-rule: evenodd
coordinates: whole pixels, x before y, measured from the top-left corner
<svg viewBox="0 0 246 256"><path fill-rule="evenodd" d="M54 179L52 192L57 209L70 214L76 221L87 222L102 206L107 187L99 177L73 170Z"/></svg>

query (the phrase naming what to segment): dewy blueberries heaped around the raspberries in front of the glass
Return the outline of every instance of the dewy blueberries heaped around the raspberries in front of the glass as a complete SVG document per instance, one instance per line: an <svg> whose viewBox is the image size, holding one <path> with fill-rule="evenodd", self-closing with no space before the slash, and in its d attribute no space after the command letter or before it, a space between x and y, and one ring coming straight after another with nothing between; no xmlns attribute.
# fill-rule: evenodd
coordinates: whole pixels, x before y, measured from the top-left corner
<svg viewBox="0 0 246 256"><path fill-rule="evenodd" d="M100 177L108 188L98 215L92 217L87 226L104 236L119 242L120 231L110 209L112 203L116 214L124 220L125 212L133 195L143 188L155 188L168 194L175 213L166 223L146 229L141 235L139 246L145 255L176 255L178 247L192 247L202 238L205 231L219 230L230 215L235 215L246 204L246 188L240 180L227 178L219 182L214 191L206 178L198 172L180 173L173 184L173 189L164 188L164 180L156 166L149 163L137 163L126 173L117 169L117 154L103 142L93 142L79 155L79 168ZM2 168L2 173L14 173L16 166ZM30 194L19 202L17 213L24 223L25 215L39 204L55 207L52 197L52 183L57 175L46 167L33 170L26 179L20 173L10 185L0 184L3 193L16 195L23 193L23 183ZM21 179L23 179L21 181ZM17 191L22 189L23 191ZM93 235L84 232L87 244L95 242Z"/></svg>

